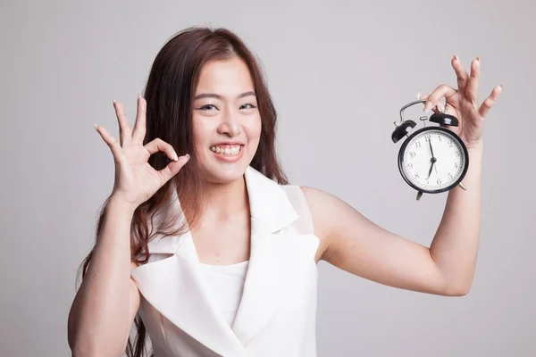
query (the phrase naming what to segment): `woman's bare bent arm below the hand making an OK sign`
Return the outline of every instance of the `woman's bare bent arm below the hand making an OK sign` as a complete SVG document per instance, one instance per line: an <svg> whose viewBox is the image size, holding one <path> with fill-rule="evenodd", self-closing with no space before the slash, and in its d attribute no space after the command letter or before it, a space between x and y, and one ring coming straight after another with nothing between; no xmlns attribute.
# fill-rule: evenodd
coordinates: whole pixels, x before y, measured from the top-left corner
<svg viewBox="0 0 536 357"><path fill-rule="evenodd" d="M139 306L130 278L134 209L112 198L86 277L71 306L68 341L74 356L120 356Z"/></svg>

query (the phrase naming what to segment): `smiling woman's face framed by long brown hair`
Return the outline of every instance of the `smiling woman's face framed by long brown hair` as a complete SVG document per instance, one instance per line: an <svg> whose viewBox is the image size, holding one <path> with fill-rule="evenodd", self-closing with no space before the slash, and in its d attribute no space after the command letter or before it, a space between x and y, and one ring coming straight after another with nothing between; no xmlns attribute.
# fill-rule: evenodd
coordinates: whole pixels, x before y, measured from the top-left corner
<svg viewBox="0 0 536 357"><path fill-rule="evenodd" d="M253 160L261 116L253 80L239 57L205 63L194 94L193 128L197 162L204 179L240 179Z"/></svg>

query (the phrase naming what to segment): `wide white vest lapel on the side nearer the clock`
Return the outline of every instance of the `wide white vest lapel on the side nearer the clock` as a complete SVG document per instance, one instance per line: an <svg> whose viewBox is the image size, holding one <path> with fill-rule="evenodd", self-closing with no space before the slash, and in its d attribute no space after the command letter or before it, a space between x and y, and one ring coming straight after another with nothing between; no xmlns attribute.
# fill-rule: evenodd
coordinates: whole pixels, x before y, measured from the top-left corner
<svg viewBox="0 0 536 357"><path fill-rule="evenodd" d="M271 320L287 294L289 271L274 244L274 235L297 220L286 193L253 168L246 171L252 216L251 253L239 311L232 326L242 345ZM284 259L283 259L284 260Z"/></svg>

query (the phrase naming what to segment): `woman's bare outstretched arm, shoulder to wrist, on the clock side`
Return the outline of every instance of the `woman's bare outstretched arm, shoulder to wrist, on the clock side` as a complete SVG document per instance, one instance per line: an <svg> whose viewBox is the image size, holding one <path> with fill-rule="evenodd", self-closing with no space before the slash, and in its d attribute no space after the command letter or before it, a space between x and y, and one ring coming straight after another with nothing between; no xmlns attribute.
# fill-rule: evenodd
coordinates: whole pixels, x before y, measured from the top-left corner
<svg viewBox="0 0 536 357"><path fill-rule="evenodd" d="M322 244L317 260L375 282L435 295L465 295L472 283L480 237L482 148L470 151L463 191L448 193L430 247L381 228L338 197L302 187Z"/></svg>

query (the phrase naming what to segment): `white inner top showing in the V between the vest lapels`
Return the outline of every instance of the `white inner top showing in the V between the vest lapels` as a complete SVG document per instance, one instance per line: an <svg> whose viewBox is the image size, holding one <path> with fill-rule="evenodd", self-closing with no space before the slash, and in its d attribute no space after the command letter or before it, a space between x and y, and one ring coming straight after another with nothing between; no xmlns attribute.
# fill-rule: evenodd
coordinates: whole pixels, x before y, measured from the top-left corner
<svg viewBox="0 0 536 357"><path fill-rule="evenodd" d="M202 278L214 306L223 319L232 326L246 280L248 262L230 265L210 265L200 263Z"/></svg>

